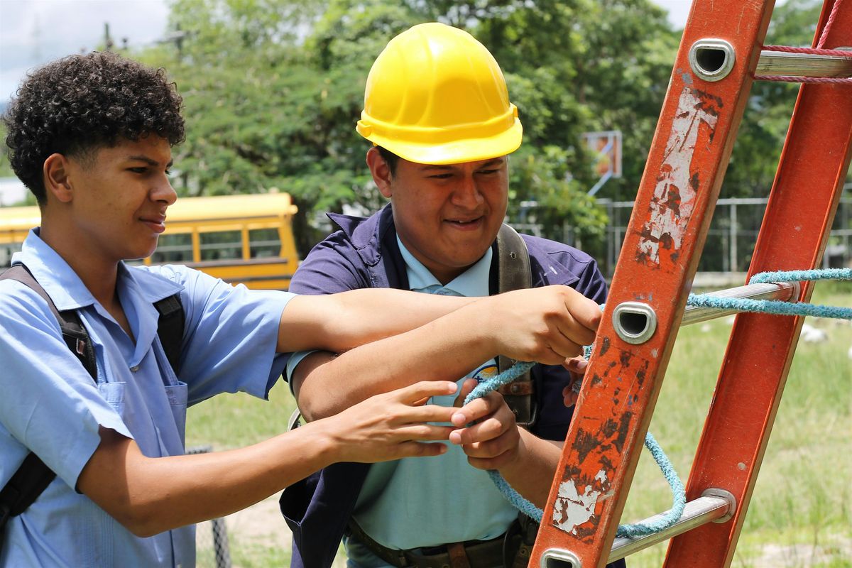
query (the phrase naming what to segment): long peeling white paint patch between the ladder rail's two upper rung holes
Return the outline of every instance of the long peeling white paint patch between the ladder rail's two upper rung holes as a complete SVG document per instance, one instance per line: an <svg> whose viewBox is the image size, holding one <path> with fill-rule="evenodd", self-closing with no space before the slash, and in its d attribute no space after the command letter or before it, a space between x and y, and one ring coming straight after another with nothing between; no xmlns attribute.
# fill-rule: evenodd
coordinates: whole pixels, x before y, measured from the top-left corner
<svg viewBox="0 0 852 568"><path fill-rule="evenodd" d="M666 246L672 252L679 250L695 206L695 190L689 182L689 164L695 153L700 124L706 123L713 130L717 122L717 116L708 112L705 106L706 101L701 100L693 89L689 86L683 88L665 145L665 159L653 190L651 216L639 240L640 254L658 266L660 239L671 241Z"/></svg>

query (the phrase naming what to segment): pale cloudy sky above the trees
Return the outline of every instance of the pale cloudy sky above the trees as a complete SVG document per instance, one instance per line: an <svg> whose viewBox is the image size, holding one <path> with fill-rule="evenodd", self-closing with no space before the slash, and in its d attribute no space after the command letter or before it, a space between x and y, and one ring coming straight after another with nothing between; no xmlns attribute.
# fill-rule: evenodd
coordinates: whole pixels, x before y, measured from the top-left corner
<svg viewBox="0 0 852 568"><path fill-rule="evenodd" d="M653 2L686 23L692 0ZM102 43L105 22L115 43L141 47L164 36L168 15L167 0L0 0L0 104L27 70Z"/></svg>

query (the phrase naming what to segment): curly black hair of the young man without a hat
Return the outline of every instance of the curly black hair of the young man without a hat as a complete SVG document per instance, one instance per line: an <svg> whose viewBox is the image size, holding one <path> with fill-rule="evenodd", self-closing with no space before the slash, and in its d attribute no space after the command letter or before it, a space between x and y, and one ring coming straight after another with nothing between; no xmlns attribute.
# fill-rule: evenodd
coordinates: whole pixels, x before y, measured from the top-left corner
<svg viewBox="0 0 852 568"><path fill-rule="evenodd" d="M184 139L181 95L164 69L114 53L71 55L29 74L3 116L15 175L46 201L43 164L53 153L87 157L119 139Z"/></svg>

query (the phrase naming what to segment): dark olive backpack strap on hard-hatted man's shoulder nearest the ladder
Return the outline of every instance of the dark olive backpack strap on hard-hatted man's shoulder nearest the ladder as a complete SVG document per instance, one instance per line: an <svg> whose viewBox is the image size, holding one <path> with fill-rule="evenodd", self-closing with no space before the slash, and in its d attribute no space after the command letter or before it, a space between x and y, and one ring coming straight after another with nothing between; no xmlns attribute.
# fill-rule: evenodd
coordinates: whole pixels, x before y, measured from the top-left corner
<svg viewBox="0 0 852 568"><path fill-rule="evenodd" d="M527 244L515 229L506 224L497 233L497 251L498 293L532 288L533 273ZM497 359L498 371L509 369L512 364L514 361L503 355ZM535 383L529 371L500 387L498 392L515 413L515 422L519 426L528 428L535 423L538 417Z"/></svg>

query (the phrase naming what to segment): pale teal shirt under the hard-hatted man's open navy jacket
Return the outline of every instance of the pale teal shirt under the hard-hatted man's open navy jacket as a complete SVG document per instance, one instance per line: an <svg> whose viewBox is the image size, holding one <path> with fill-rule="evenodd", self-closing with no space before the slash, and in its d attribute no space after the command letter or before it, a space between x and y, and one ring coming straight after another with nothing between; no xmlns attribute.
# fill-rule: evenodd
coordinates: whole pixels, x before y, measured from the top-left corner
<svg viewBox="0 0 852 568"><path fill-rule="evenodd" d="M406 250L397 238L406 262L411 290L428 294L488 295L492 250L449 284L442 285L429 269ZM435 364L440 364L436 360ZM423 370L425 374L428 369ZM485 379L497 372L492 359L471 370L465 378ZM429 402L452 406L455 396L434 397ZM354 519L376 542L388 548L429 547L447 542L486 540L503 534L517 518L517 510L506 501L488 474L470 466L457 446L447 443L445 454L375 463L355 505ZM347 543L352 565L386 565L357 543Z"/></svg>

